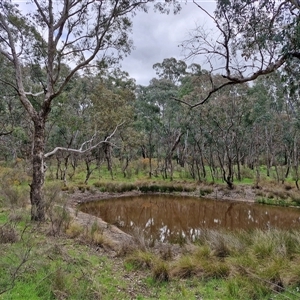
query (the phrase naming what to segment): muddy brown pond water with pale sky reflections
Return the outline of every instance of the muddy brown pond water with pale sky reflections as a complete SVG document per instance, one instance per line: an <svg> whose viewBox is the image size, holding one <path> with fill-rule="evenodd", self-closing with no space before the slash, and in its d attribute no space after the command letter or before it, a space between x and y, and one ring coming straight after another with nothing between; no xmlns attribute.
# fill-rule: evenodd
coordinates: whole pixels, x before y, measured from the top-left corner
<svg viewBox="0 0 300 300"><path fill-rule="evenodd" d="M195 240L204 229L300 229L298 208L173 195L99 200L80 204L79 210L126 233L137 228L147 239L162 242Z"/></svg>

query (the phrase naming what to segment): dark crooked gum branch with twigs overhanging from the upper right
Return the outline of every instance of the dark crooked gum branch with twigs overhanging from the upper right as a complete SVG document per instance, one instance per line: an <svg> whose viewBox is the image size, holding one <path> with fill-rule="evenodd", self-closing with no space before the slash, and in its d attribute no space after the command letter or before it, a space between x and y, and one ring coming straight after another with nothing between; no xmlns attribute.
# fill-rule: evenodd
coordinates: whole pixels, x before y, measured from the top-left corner
<svg viewBox="0 0 300 300"><path fill-rule="evenodd" d="M267 11L267 9L264 11L263 8L255 7L255 9L263 10L265 22L267 22L262 25L261 29L255 27L255 21L258 21L259 15L256 16L255 11L252 12L253 7L250 7L252 10L248 12L247 9L250 10L250 8L248 8L246 4L241 8L242 10L245 9L244 14L241 15L241 18L243 18L242 21L238 21L235 24L232 23L235 20L233 17L234 13L237 14L238 12L230 11L230 6L228 7L228 10L227 8L221 8L219 10L219 15L212 15L199 3L196 1L193 2L215 23L220 35L215 35L214 42L212 42L211 35L207 35L203 31L203 28L196 28L195 32L191 35L192 37L182 44L184 49L188 51L186 58L197 57L199 55L205 56L207 59L206 63L210 64L212 68L211 73L214 72L216 74L218 69L223 69L222 77L226 79L226 82L217 83L217 80L215 80L217 77L211 77L211 88L207 91L206 95L204 95L204 98L197 103L191 104L178 98L173 98L174 100L183 103L190 108L195 108L204 104L214 93L226 86L253 81L260 76L278 70L290 58L300 59L300 51L295 50L283 53L283 51L281 51L281 45L278 44L275 38L272 39L272 36L267 39L267 41L263 42L260 40L261 37L260 39L257 37L260 34L259 30L263 33L267 31L271 35L275 34L274 32L280 28L280 24L276 23L276 26L274 25L275 19L279 18L283 5L290 2L293 3L295 7L298 7L297 4L299 5L300 1L286 0L274 8L273 14L272 12ZM246 22L245 18L247 16L249 17L250 13L255 17L254 21L252 21L253 23L249 23L249 28L241 27L241 32L234 33L239 29L238 26L244 26L243 21ZM258 13L259 12L257 12L257 14ZM251 38L249 38L249 36L251 36ZM267 44L268 41L269 44ZM222 65L214 68L213 59L219 60ZM248 60L252 61L251 64L247 63Z"/></svg>

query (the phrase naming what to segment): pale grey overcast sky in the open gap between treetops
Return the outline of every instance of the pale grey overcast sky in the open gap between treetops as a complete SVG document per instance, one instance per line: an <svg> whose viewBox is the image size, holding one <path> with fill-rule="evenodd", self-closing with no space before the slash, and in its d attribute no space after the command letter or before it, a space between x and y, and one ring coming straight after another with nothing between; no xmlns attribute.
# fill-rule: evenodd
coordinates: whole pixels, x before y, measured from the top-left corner
<svg viewBox="0 0 300 300"><path fill-rule="evenodd" d="M213 12L215 1L198 1L208 11ZM164 58L175 57L183 60L182 49L178 45L188 38L188 33L196 25L213 26L212 21L191 2L182 3L179 14L169 15L158 12L139 12L133 19L132 39L135 49L122 62L122 69L137 84L148 85L156 77L152 66ZM199 58L200 59L200 58ZM191 62L187 62L189 65ZM198 61L201 63L201 61Z"/></svg>

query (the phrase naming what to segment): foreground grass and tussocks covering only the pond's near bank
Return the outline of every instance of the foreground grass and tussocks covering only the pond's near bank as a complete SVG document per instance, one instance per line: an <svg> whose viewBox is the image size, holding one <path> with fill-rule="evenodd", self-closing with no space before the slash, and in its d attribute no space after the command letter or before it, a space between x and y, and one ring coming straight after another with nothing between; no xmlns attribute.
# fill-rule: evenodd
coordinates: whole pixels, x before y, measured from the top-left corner
<svg viewBox="0 0 300 300"><path fill-rule="evenodd" d="M0 293L8 289L0 299L300 297L298 232L207 230L180 252L170 245L168 256L154 247L119 257L101 247L105 241L95 243L101 233L95 224L70 238L47 235L50 224L22 222L17 240L0 243Z"/></svg>

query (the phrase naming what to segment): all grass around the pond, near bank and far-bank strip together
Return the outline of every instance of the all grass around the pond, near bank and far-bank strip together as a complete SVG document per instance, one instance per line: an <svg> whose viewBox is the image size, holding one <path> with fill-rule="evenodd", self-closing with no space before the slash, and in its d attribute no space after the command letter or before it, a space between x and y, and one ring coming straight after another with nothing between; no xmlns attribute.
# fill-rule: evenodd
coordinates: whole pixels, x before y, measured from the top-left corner
<svg viewBox="0 0 300 300"><path fill-rule="evenodd" d="M82 183L81 170L68 191L105 188L123 193L138 186L179 192L196 187L183 178L173 182L147 180L143 168L140 177L116 176L114 181L104 178L104 172L101 178L95 173L88 185ZM247 174L250 177L249 170ZM86 228L70 219L63 209L60 184L54 180L46 186L51 204L47 208L49 220L44 224L29 222L28 199L16 198L27 189L27 179L17 175L12 173L12 190L7 190L0 202L0 299L300 298L299 232L207 230L195 243L182 243L179 249L170 245L162 251L140 242L116 253L105 247L110 241L96 223ZM273 192L273 198L268 199L285 195L289 197L284 201L291 195L297 199L290 183L285 185L284 194L275 186L271 183L268 189L259 189L260 197ZM207 195L212 190L213 185L203 185L195 195ZM57 204L60 208L54 209Z"/></svg>

